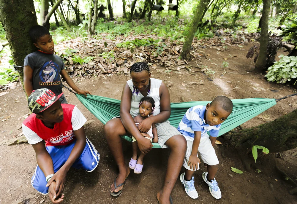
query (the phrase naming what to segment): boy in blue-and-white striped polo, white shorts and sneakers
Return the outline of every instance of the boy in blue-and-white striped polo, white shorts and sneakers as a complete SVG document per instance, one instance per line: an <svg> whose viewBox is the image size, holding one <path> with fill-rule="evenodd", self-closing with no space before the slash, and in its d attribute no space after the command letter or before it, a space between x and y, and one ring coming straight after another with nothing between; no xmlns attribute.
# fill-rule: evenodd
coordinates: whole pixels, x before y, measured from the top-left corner
<svg viewBox="0 0 297 204"><path fill-rule="evenodd" d="M221 190L214 176L218 170L219 160L214 151L214 144L219 134L221 123L231 114L232 101L226 96L218 96L206 106L194 106L190 108L178 125L180 131L187 140L187 152L184 159L185 173L181 174L181 183L189 197L198 198L198 192L194 187L194 171L199 169L199 151L203 162L207 164L207 172L202 174L203 180L208 184L211 195L220 199ZM210 137L206 132L210 133Z"/></svg>

